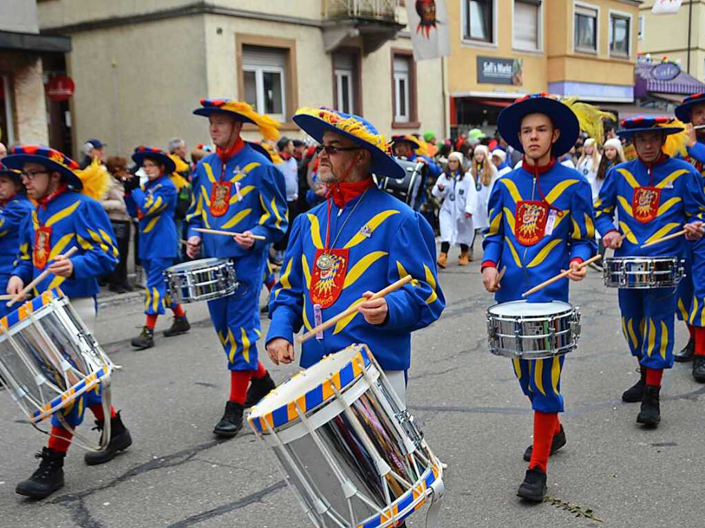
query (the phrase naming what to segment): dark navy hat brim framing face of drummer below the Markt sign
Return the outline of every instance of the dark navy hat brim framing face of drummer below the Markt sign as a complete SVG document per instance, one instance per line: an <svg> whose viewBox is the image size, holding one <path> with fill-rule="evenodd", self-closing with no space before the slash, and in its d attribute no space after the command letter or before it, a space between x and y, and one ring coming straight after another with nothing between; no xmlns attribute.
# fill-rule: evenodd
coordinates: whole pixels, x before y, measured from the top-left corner
<svg viewBox="0 0 705 528"><path fill-rule="evenodd" d="M562 156L575 144L575 140L580 134L580 123L575 113L556 99L534 97L507 106L497 118L499 133L505 142L513 146L514 149L524 152L524 147L519 141L519 128L522 119L530 113L548 115L553 125L560 130L558 141L551 147L553 156Z"/></svg>

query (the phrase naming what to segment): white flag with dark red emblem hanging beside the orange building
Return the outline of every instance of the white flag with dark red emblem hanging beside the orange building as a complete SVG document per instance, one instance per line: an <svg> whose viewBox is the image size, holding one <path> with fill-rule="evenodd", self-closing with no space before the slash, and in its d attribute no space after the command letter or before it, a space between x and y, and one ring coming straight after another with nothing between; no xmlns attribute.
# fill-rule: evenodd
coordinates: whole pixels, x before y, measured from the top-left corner
<svg viewBox="0 0 705 528"><path fill-rule="evenodd" d="M450 55L446 0L407 0L406 11L414 59Z"/></svg>

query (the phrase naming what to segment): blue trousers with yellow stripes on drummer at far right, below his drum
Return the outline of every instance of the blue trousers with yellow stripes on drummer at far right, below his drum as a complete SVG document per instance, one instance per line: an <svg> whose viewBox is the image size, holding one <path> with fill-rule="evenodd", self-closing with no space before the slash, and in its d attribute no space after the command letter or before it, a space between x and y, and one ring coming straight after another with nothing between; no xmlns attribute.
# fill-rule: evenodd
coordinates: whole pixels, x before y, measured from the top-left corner
<svg viewBox="0 0 705 528"><path fill-rule="evenodd" d="M642 366L673 367L675 305L674 288L620 289L622 332Z"/></svg>

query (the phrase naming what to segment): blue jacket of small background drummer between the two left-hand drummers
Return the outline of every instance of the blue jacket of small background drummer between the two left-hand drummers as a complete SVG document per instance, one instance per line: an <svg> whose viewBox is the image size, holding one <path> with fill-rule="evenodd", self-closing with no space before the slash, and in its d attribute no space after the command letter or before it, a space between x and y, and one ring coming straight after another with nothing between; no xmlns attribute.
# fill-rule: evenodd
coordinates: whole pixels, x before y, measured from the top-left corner
<svg viewBox="0 0 705 528"><path fill-rule="evenodd" d="M162 175L125 197L128 213L140 219L140 258L176 258L176 186Z"/></svg>

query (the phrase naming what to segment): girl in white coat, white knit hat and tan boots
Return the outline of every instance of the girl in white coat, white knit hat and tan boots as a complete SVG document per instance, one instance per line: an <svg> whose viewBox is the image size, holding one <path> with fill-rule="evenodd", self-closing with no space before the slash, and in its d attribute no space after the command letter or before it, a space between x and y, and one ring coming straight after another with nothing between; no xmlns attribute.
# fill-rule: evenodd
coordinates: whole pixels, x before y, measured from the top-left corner
<svg viewBox="0 0 705 528"><path fill-rule="evenodd" d="M441 253L436 263L440 268L446 268L448 263L448 250L456 244L460 246L458 265L465 266L470 263L468 251L474 239L474 225L472 212L477 200L472 176L465 172L463 156L460 152L451 152L448 155L446 170L436 180L431 194L443 200L439 211L439 225L441 227Z"/></svg>

